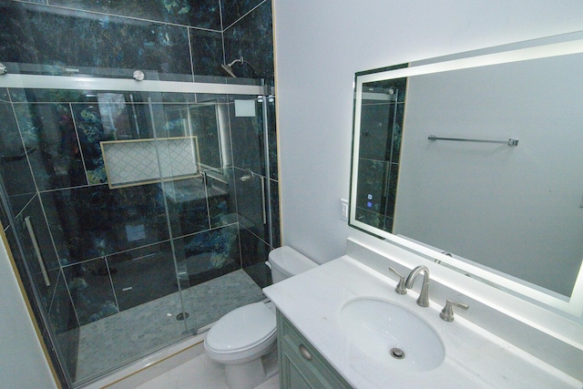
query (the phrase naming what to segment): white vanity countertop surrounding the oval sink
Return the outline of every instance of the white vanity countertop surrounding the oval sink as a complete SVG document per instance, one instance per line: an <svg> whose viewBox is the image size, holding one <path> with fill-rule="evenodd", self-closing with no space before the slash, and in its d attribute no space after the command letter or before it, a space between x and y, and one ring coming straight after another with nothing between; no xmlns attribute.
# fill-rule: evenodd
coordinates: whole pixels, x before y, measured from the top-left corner
<svg viewBox="0 0 583 389"><path fill-rule="evenodd" d="M575 378L464 318L441 320L443 307L431 301L431 281L427 308L416 305L417 293L399 295L394 286L390 278L343 256L263 292L354 388L583 388ZM404 372L366 361L340 322L344 302L357 297L393 302L422 318L441 337L444 362L431 371Z"/></svg>

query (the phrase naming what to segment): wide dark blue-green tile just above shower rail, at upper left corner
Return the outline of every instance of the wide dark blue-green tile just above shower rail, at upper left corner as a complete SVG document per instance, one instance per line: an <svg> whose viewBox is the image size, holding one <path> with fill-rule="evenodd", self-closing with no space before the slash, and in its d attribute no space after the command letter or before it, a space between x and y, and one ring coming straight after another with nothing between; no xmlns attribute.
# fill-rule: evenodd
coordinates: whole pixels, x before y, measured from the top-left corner
<svg viewBox="0 0 583 389"><path fill-rule="evenodd" d="M59 67L191 74L188 28L43 5L0 5L0 58ZM75 38L71 38L71 37Z"/></svg>

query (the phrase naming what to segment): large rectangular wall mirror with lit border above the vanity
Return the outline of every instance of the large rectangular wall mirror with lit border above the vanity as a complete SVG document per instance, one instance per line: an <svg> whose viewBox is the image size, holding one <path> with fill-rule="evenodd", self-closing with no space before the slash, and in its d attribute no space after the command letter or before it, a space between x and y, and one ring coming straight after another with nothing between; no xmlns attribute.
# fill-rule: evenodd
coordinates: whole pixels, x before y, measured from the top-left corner
<svg viewBox="0 0 583 389"><path fill-rule="evenodd" d="M583 322L583 33L355 77L349 224Z"/></svg>

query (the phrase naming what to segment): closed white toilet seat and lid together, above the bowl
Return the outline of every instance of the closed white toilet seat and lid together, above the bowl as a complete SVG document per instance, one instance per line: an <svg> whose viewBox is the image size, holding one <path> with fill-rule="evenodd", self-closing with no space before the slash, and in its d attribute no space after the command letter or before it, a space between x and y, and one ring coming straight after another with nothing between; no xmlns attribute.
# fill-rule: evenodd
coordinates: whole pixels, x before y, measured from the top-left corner
<svg viewBox="0 0 583 389"><path fill-rule="evenodd" d="M207 333L205 349L212 359L241 362L269 352L277 338L275 314L255 302L227 313Z"/></svg>

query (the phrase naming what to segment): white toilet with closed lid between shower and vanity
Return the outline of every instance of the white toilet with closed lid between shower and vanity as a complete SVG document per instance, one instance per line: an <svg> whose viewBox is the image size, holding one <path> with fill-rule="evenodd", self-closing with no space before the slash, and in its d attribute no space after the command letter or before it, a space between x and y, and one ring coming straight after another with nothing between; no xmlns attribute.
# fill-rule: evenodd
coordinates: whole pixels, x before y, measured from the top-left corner
<svg viewBox="0 0 583 389"><path fill-rule="evenodd" d="M269 255L273 282L280 282L317 267L291 247ZM223 363L230 389L251 389L277 373L275 308L271 302L254 302L237 308L215 322L204 348L213 361Z"/></svg>

